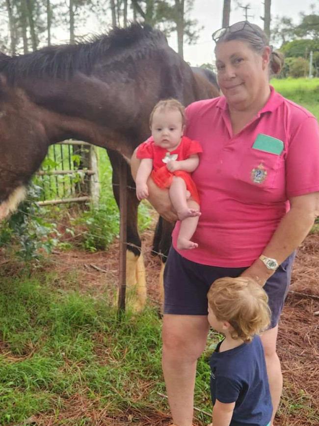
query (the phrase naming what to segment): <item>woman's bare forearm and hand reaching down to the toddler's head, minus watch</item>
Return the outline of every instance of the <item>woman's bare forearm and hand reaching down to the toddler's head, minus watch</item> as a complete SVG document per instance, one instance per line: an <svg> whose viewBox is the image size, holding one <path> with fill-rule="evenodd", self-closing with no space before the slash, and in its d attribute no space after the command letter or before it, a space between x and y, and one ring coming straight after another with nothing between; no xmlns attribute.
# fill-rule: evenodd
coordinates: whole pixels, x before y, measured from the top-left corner
<svg viewBox="0 0 319 426"><path fill-rule="evenodd" d="M263 255L282 263L306 238L319 215L319 192L292 197L291 208L282 218L271 240L265 247ZM257 259L241 275L249 276L264 285L275 271L266 268Z"/></svg>

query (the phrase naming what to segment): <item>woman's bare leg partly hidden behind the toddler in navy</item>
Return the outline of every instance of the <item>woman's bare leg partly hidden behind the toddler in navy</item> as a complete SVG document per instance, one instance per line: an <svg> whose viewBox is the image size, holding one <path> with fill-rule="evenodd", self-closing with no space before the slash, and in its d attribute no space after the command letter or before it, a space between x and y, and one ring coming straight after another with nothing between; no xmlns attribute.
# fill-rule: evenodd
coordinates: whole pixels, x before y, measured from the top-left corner
<svg viewBox="0 0 319 426"><path fill-rule="evenodd" d="M276 325L274 328L271 328L270 330L265 331L261 336L265 351L270 395L273 406L271 425L273 425L283 388L283 376L281 372L280 361L276 353L277 334L278 325Z"/></svg>

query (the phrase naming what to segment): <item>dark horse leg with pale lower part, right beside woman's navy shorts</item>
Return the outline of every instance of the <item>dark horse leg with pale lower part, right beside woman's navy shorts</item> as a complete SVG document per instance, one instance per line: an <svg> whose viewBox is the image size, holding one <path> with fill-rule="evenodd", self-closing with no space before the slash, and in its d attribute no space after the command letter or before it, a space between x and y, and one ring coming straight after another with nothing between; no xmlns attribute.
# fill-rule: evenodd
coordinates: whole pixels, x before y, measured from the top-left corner
<svg viewBox="0 0 319 426"><path fill-rule="evenodd" d="M159 218L158 223L155 229L155 235L153 239L153 250L154 255L160 256L160 301L164 302L164 282L163 282L163 273L165 262L168 256L169 248L172 243L172 231L174 224L165 221L162 217Z"/></svg>

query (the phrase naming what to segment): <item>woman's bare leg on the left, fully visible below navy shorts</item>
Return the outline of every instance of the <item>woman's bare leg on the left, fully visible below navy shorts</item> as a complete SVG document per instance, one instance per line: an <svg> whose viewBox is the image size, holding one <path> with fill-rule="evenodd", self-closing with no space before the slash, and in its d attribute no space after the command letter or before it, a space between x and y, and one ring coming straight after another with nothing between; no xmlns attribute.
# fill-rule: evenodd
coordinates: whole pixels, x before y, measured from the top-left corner
<svg viewBox="0 0 319 426"><path fill-rule="evenodd" d="M208 330L206 315L164 314L162 368L174 425L192 425L196 364Z"/></svg>

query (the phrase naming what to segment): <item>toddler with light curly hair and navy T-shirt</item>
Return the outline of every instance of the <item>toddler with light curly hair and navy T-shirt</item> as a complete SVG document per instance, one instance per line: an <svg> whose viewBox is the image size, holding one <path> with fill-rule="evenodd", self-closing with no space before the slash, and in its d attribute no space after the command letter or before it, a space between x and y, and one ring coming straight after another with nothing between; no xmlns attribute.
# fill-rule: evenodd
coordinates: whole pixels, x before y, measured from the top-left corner
<svg viewBox="0 0 319 426"><path fill-rule="evenodd" d="M209 323L225 335L210 360L211 426L270 426L272 404L258 336L270 322L266 292L247 277L220 278L207 297Z"/></svg>

